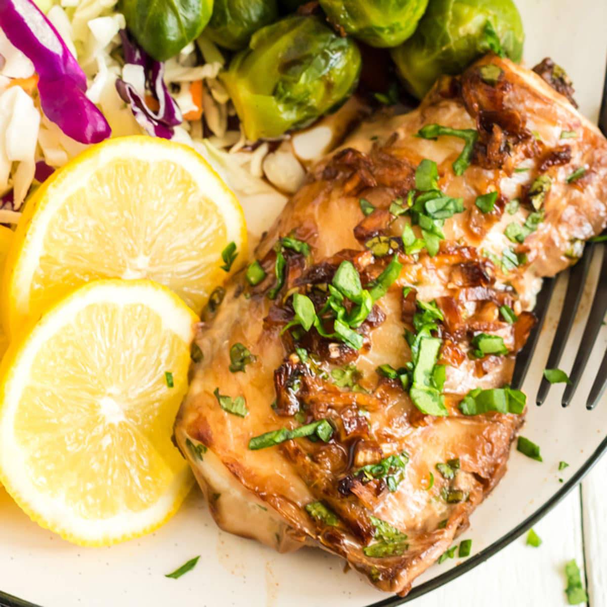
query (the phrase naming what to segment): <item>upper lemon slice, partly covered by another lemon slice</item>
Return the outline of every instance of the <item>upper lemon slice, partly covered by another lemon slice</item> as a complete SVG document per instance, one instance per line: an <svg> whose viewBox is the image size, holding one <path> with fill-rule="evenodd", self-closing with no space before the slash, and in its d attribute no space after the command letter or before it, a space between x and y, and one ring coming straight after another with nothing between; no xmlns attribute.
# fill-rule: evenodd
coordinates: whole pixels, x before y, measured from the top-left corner
<svg viewBox="0 0 607 607"><path fill-rule="evenodd" d="M245 262L243 212L197 152L139 136L92 146L27 203L1 296L8 333L99 278L155 280L200 313L227 276L231 242L235 271Z"/></svg>

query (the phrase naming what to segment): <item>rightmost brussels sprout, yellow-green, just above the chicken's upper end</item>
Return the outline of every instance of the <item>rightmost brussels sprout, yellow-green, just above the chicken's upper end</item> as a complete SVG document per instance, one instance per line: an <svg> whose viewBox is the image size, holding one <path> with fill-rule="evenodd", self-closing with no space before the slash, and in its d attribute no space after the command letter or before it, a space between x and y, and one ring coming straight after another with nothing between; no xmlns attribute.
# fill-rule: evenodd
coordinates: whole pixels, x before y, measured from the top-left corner
<svg viewBox="0 0 607 607"><path fill-rule="evenodd" d="M523 23L512 0L430 0L415 34L392 50L392 58L421 98L439 75L460 73L489 50L520 61L523 41Z"/></svg>

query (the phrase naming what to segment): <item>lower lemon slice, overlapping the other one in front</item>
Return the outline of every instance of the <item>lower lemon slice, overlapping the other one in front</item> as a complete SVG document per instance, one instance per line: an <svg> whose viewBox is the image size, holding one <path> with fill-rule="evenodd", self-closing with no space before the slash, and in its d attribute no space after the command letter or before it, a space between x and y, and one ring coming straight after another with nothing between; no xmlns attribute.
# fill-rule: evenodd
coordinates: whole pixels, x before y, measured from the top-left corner
<svg viewBox="0 0 607 607"><path fill-rule="evenodd" d="M99 280L11 344L0 371L0 481L84 546L143 535L192 485L171 443L195 314L149 280Z"/></svg>

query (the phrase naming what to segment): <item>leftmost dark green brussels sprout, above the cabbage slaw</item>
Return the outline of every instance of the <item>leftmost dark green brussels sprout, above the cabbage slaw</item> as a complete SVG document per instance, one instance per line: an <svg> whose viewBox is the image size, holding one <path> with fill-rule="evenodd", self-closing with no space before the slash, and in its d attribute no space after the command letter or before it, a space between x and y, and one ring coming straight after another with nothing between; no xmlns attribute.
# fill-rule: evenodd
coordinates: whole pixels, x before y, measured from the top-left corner
<svg viewBox="0 0 607 607"><path fill-rule="evenodd" d="M200 36L211 19L213 0L122 0L120 10L139 46L164 61Z"/></svg>

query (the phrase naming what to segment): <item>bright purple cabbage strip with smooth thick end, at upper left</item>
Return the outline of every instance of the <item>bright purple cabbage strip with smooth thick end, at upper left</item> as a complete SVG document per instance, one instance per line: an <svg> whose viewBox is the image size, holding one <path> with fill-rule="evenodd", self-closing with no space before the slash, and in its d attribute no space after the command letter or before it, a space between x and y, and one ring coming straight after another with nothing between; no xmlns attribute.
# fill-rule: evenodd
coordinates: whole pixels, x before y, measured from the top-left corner
<svg viewBox="0 0 607 607"><path fill-rule="evenodd" d="M0 28L32 61L42 111L69 137L98 143L110 126L86 95L86 76L52 23L32 0L0 0Z"/></svg>

